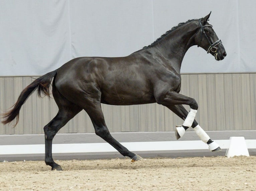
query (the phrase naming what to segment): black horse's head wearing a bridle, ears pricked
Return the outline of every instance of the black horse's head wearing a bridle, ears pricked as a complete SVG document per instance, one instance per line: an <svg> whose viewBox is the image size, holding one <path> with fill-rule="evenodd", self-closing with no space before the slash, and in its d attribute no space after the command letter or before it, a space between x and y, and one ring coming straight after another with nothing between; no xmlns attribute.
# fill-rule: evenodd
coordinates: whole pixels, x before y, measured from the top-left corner
<svg viewBox="0 0 256 191"><path fill-rule="evenodd" d="M202 47L207 53L210 53L219 61L223 60L227 56L227 53L221 40L214 32L213 26L208 23L210 15L211 13L198 20L200 31L197 33L195 41L198 47Z"/></svg>

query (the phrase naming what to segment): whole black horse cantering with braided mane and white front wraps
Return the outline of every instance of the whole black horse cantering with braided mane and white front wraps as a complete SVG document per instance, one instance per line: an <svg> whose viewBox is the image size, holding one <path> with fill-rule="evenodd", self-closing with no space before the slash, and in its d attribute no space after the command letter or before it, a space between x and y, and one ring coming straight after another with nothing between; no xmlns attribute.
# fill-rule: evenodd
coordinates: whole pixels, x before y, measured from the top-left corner
<svg viewBox="0 0 256 191"><path fill-rule="evenodd" d="M211 13L210 13L211 14ZM188 20L173 27L151 45L126 57L81 57L73 59L55 71L49 72L28 85L19 95L13 108L3 114L3 124L19 118L19 110L36 89L38 96L50 94L58 105L57 115L44 126L45 163L51 169L61 170L52 158L52 139L58 130L84 109L90 116L95 133L116 148L132 162L141 159L115 140L105 123L101 103L132 105L158 103L168 107L184 119L176 127L177 139L188 127L193 127L211 151L220 150L194 120L198 104L195 99L179 94L180 67L189 47L198 45L223 60L225 49L208 23L210 14L197 20ZM182 106L190 106L187 112Z"/></svg>

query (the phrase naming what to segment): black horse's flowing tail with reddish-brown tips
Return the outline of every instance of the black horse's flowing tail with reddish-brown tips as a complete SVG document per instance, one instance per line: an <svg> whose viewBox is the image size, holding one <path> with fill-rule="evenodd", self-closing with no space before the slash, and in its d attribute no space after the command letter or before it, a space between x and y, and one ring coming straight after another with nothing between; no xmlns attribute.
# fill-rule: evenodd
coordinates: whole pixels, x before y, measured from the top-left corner
<svg viewBox="0 0 256 191"><path fill-rule="evenodd" d="M42 97L41 95L50 96L50 86L51 80L54 76L56 76L57 70L49 72L36 80L34 80L30 85L28 85L19 95L18 100L14 104L13 108L6 113L3 113L3 124L9 123L16 118L15 125L17 125L19 121L19 111L21 106L25 103L27 98L37 89L37 95Z"/></svg>

